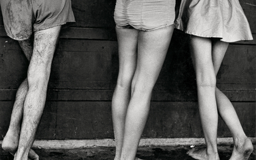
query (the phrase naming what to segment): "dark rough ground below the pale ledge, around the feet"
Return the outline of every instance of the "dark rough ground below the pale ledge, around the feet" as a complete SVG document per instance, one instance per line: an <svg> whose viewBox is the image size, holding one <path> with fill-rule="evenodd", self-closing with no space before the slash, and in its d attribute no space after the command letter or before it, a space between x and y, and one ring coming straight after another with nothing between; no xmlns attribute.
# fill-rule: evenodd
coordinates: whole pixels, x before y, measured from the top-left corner
<svg viewBox="0 0 256 160"><path fill-rule="evenodd" d="M255 160L255 144L252 155L249 160ZM200 148L204 146L196 146ZM232 154L233 146L219 145L218 150L221 160L228 160ZM141 147L138 149L137 156L141 159L147 160L192 160L186 152L190 146L179 147ZM35 149L40 156L40 160L113 160L115 156L115 148L110 147L93 147L93 148L79 148L73 150L44 150ZM12 160L13 156L8 152L0 149L0 160Z"/></svg>

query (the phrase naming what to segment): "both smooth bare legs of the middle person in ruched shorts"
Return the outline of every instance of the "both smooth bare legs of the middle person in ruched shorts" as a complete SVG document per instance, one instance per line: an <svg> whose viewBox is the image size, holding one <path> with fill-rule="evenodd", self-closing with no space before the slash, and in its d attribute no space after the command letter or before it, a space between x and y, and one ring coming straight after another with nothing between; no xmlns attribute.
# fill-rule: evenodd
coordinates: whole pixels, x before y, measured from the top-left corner
<svg viewBox="0 0 256 160"><path fill-rule="evenodd" d="M162 68L172 32L173 26L145 32L116 29L118 37L128 37L129 43L127 44L124 39L120 39L121 43L118 42L120 63L122 60L127 61L126 65L120 67L113 97L116 160L138 159L135 156L147 121L152 89Z"/></svg>

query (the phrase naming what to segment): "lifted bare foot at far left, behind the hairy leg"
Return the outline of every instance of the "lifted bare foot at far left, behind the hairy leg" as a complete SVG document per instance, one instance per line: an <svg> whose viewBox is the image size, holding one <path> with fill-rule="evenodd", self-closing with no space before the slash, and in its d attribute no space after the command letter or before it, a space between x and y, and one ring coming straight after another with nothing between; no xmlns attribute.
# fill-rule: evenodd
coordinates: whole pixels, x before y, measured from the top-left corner
<svg viewBox="0 0 256 160"><path fill-rule="evenodd" d="M8 129L8 132L6 133L2 148L3 150L6 150L11 153L15 153L19 144L19 133L13 132L10 129Z"/></svg>

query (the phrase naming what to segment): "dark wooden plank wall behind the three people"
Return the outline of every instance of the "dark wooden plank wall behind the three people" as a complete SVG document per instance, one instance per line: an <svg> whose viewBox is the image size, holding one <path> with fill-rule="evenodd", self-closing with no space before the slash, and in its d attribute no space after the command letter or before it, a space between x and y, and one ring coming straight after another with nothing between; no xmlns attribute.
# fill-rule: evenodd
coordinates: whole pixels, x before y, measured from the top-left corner
<svg viewBox="0 0 256 160"><path fill-rule="evenodd" d="M240 0L256 39L256 1ZM114 0L74 0L76 24L61 32L38 139L113 138L111 98L118 74ZM197 138L202 128L196 103L189 36L175 31L152 95L143 138ZM248 136L255 136L256 40L230 44L217 76ZM28 61L8 38L0 15L0 134L8 129L15 92ZM220 119L218 136L231 136ZM1 138L0 138L1 140Z"/></svg>

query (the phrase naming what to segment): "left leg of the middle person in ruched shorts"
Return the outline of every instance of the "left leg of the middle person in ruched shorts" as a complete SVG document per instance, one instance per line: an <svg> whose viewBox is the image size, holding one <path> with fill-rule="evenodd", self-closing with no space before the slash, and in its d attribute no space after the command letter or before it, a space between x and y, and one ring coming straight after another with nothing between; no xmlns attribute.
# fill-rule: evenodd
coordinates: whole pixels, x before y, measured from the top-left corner
<svg viewBox="0 0 256 160"><path fill-rule="evenodd" d="M124 140L127 107L131 98L131 83L137 60L138 30L116 28L119 52L119 72L112 99L112 118L116 141L115 160L119 160Z"/></svg>

